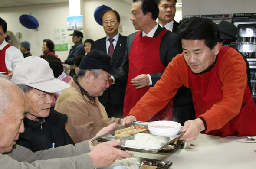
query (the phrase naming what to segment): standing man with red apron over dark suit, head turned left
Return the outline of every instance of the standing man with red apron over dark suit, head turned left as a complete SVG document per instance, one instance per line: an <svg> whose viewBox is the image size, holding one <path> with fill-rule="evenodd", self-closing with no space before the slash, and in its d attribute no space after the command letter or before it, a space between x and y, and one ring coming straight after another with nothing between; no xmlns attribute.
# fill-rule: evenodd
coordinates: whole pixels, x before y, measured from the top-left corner
<svg viewBox="0 0 256 169"><path fill-rule="evenodd" d="M123 117L127 116L150 86L160 79L172 58L182 52L181 41L175 33L162 29L156 18L158 6L154 0L134 0L131 20L139 32L128 36L125 58L119 71L128 74ZM113 75L115 80L120 76ZM172 104L172 102L171 102ZM171 120L171 105L152 120Z"/></svg>

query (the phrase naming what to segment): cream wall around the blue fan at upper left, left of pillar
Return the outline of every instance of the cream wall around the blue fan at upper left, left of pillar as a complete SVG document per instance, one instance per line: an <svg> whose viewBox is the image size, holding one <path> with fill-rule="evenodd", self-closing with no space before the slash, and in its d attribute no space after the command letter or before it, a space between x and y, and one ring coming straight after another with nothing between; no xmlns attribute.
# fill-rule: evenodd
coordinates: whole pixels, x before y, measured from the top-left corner
<svg viewBox="0 0 256 169"><path fill-rule="evenodd" d="M39 22L38 31L27 29L20 24L19 17L23 14L35 14ZM31 43L31 53L39 56L42 52L43 39L53 39L54 28L66 28L66 16L69 15L69 3L52 3L22 7L7 7L0 9L0 17L7 22L7 30L11 31L13 45L20 48L16 33L22 34L20 42L27 40ZM56 52L61 59L66 58L68 52Z"/></svg>

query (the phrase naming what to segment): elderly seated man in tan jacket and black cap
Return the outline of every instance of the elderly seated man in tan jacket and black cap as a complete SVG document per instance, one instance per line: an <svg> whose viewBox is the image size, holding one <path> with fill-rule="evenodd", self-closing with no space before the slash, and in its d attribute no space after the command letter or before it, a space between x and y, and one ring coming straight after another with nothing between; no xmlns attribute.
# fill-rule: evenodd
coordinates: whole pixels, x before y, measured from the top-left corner
<svg viewBox="0 0 256 169"><path fill-rule="evenodd" d="M69 82L71 88L59 95L55 110L69 116L66 130L75 143L92 138L111 123L121 122L121 118L108 118L97 98L109 87L111 74L120 75L112 68L111 57L94 49L82 59L77 76Z"/></svg>

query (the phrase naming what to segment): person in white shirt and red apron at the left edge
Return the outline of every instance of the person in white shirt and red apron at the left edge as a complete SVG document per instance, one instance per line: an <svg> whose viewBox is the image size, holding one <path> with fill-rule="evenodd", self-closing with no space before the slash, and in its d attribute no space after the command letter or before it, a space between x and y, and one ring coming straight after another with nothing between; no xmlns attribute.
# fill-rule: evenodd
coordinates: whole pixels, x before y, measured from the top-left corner
<svg viewBox="0 0 256 169"><path fill-rule="evenodd" d="M7 75L13 75L13 69L23 58L20 49L11 46L5 41L7 36L7 23L0 18L0 72Z"/></svg>

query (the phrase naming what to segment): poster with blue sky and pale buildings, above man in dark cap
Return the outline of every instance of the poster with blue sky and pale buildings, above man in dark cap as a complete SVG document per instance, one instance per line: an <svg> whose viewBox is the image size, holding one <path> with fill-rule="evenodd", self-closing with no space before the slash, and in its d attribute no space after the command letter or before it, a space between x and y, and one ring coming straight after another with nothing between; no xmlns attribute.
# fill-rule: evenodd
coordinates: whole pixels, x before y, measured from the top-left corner
<svg viewBox="0 0 256 169"><path fill-rule="evenodd" d="M83 32L83 16L67 16L67 28L68 28L68 49L71 49L71 46L74 45L72 42L72 36L69 36L74 32L74 30L79 30Z"/></svg>

